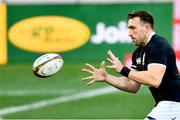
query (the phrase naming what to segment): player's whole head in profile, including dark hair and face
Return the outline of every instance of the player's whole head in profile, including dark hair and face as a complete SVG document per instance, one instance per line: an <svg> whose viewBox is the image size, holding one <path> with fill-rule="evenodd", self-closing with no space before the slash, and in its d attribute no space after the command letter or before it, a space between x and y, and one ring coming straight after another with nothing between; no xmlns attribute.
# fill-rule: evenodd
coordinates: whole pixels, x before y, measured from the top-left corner
<svg viewBox="0 0 180 120"><path fill-rule="evenodd" d="M154 29L153 16L146 11L135 11L128 14L128 35L136 45L144 45L150 31Z"/></svg>

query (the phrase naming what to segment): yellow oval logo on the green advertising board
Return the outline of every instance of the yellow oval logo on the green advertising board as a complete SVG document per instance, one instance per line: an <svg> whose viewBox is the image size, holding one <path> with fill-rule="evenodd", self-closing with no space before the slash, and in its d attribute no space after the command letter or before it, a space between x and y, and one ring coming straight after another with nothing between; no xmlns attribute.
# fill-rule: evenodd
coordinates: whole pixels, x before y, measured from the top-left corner
<svg viewBox="0 0 180 120"><path fill-rule="evenodd" d="M64 52L84 45L90 29L83 22L63 16L36 16L15 23L9 39L32 52Z"/></svg>

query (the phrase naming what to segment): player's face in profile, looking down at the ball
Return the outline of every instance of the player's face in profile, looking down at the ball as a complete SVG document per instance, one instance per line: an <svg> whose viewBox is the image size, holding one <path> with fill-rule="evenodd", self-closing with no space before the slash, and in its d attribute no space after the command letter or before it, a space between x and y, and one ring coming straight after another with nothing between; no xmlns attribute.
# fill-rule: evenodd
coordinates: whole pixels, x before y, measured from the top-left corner
<svg viewBox="0 0 180 120"><path fill-rule="evenodd" d="M134 17L128 21L128 35L131 37L135 45L145 45L146 27L140 21L139 17Z"/></svg>

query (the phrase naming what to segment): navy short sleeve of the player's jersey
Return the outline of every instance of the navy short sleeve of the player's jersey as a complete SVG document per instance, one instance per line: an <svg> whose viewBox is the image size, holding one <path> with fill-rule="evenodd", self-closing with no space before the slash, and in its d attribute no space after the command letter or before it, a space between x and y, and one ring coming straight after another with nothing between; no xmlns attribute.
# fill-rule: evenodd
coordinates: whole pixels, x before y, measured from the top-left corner
<svg viewBox="0 0 180 120"><path fill-rule="evenodd" d="M159 63L167 65L167 52L165 46L161 44L155 44L149 50L148 64Z"/></svg>

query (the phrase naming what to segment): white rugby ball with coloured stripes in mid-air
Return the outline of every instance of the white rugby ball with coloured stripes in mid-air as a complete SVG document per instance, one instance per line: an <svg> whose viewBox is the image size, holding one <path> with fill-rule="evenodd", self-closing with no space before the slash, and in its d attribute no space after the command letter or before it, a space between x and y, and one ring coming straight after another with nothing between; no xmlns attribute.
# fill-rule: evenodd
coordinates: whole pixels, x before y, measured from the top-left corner
<svg viewBox="0 0 180 120"><path fill-rule="evenodd" d="M37 58L33 63L33 73L38 77L50 77L63 66L63 59L59 54L47 53Z"/></svg>

